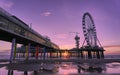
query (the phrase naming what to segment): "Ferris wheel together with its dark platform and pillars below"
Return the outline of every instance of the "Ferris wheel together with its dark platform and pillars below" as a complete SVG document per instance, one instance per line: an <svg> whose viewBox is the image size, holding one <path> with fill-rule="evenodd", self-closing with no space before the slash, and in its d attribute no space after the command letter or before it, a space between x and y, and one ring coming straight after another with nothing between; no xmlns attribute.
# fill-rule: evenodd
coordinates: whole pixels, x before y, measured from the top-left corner
<svg viewBox="0 0 120 75"><path fill-rule="evenodd" d="M82 58L104 58L104 49L101 46L96 33L92 16L87 12L82 18L82 28L85 40L80 48Z"/></svg>

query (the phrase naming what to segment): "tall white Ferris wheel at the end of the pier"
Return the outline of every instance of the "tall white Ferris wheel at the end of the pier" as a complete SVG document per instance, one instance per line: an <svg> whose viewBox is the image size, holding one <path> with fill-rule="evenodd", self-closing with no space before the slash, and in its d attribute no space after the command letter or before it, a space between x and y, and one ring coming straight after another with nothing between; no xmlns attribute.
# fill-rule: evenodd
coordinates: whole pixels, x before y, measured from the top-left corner
<svg viewBox="0 0 120 75"><path fill-rule="evenodd" d="M87 46L90 47L97 46L96 27L92 19L92 16L88 12L84 13L83 15L82 28Z"/></svg>

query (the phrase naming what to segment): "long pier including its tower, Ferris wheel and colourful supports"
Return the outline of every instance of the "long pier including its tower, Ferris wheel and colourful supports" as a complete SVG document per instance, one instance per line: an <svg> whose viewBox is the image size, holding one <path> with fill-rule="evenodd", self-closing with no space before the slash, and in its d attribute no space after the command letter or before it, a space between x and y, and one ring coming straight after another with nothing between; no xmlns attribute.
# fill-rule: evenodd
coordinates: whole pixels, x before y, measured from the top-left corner
<svg viewBox="0 0 120 75"><path fill-rule="evenodd" d="M89 17L91 27L87 27L86 18ZM33 30L29 25L14 15L9 14L4 9L0 9L0 40L11 42L10 62L16 57L25 57L29 60L30 56L36 58L62 58L62 57L78 57L82 59L104 59L104 49L101 46L95 24L91 15L84 13L82 18L83 34L85 40L82 47L79 47L80 37L76 33L76 48L70 50L61 50L58 45L53 43L50 38L43 37L41 34ZM91 29L94 28L94 29ZM89 34L89 35L88 35ZM86 44L84 45L84 43ZM17 47L17 44L22 44Z"/></svg>

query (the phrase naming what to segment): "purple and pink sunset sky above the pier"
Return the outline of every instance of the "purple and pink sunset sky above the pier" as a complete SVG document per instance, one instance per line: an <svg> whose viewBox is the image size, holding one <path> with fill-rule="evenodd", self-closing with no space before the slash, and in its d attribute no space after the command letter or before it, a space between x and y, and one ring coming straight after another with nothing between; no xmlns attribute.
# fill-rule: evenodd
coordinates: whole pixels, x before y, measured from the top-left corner
<svg viewBox="0 0 120 75"><path fill-rule="evenodd" d="M75 34L69 32L79 32L83 43L82 16L89 12L101 44L120 45L120 0L0 0L0 6L32 23L34 30L49 36L60 48L75 47Z"/></svg>

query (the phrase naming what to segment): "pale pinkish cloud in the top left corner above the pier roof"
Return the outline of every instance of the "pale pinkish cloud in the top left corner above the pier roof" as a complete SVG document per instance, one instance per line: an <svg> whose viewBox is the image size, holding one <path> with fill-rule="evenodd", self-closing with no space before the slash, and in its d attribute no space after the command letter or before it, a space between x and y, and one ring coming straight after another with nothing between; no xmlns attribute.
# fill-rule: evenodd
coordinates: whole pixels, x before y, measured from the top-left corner
<svg viewBox="0 0 120 75"><path fill-rule="evenodd" d="M14 5L13 2L8 0L0 0L0 7L9 10Z"/></svg>

